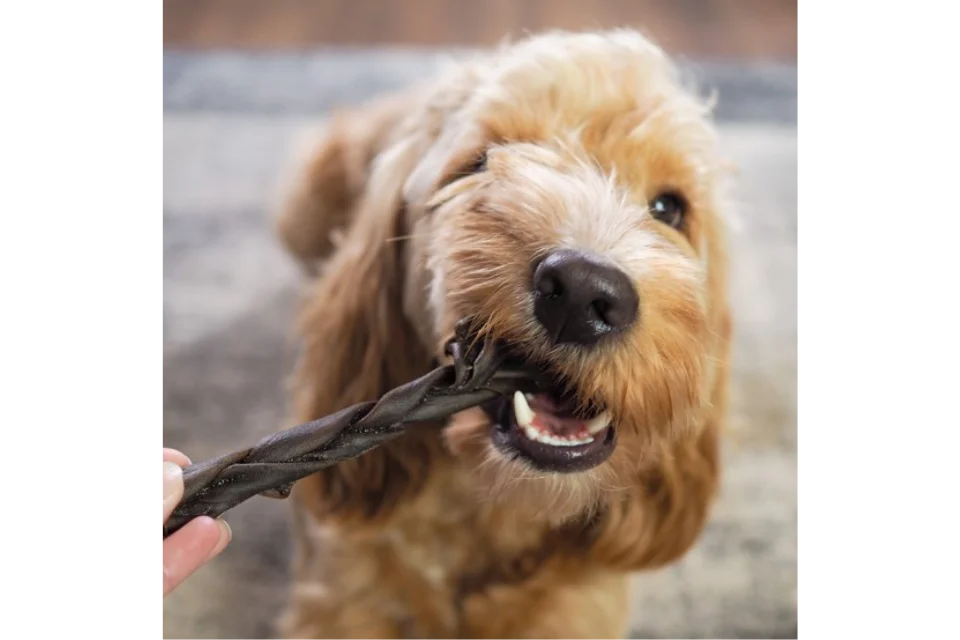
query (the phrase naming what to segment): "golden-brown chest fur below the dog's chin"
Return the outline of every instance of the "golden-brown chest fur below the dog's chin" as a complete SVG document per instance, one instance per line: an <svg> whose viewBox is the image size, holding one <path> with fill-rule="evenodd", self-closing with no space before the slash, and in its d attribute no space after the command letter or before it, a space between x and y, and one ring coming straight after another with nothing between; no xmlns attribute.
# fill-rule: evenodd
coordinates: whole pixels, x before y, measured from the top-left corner
<svg viewBox="0 0 960 640"><path fill-rule="evenodd" d="M295 592L317 596L320 617L339 624L379 619L404 640L466 640L515 628L551 592L587 579L545 525L478 500L473 481L455 463L440 463L382 527L308 519L315 562Z"/></svg>

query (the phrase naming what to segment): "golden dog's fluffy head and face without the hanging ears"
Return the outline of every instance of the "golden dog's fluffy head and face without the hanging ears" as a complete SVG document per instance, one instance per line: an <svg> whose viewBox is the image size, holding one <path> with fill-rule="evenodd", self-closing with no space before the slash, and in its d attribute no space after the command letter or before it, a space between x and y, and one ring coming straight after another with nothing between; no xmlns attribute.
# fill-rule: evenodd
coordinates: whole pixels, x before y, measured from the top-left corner
<svg viewBox="0 0 960 640"><path fill-rule="evenodd" d="M708 106L628 31L532 38L420 98L371 165L332 267L348 294L379 265L392 302L358 302L377 319L346 330L397 322L441 357L478 319L552 388L456 416L449 449L482 499L582 515L629 491L710 403L726 167ZM389 359L387 337L374 342L369 365Z"/></svg>

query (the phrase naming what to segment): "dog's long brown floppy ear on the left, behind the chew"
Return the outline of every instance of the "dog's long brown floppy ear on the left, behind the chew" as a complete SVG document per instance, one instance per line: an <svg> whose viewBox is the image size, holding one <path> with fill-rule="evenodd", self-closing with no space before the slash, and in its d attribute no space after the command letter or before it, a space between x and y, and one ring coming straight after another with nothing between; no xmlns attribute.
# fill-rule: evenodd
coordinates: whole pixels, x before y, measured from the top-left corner
<svg viewBox="0 0 960 640"><path fill-rule="evenodd" d="M352 207L342 212L345 233L300 317L302 353L293 389L300 422L376 400L429 370L430 354L403 313L402 189L419 157L416 139L392 141L370 162ZM404 436L343 462L298 483L297 499L338 517L389 513L426 477L434 440Z"/></svg>

